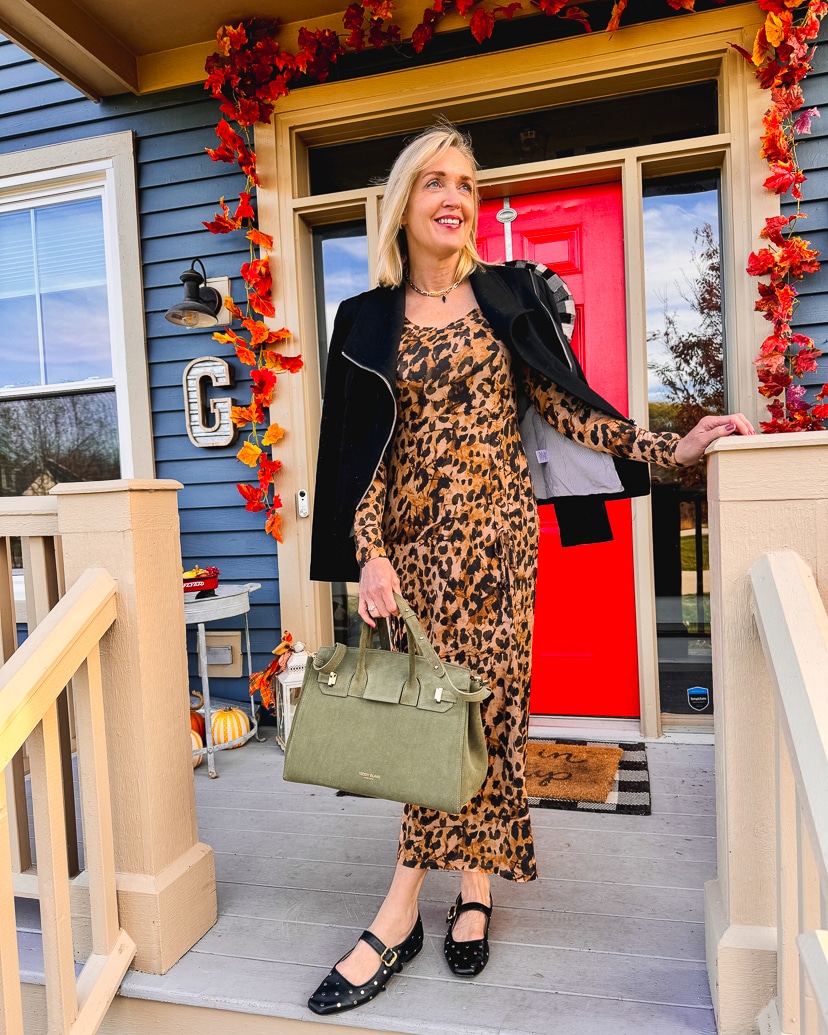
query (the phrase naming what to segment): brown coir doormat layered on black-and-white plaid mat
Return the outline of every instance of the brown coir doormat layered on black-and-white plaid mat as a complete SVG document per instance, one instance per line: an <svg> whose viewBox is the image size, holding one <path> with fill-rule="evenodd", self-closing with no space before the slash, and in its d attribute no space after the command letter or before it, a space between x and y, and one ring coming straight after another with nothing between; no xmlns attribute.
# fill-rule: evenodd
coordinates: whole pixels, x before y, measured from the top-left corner
<svg viewBox="0 0 828 1035"><path fill-rule="evenodd" d="M526 789L533 808L649 816L650 774L643 743L530 738Z"/></svg>

